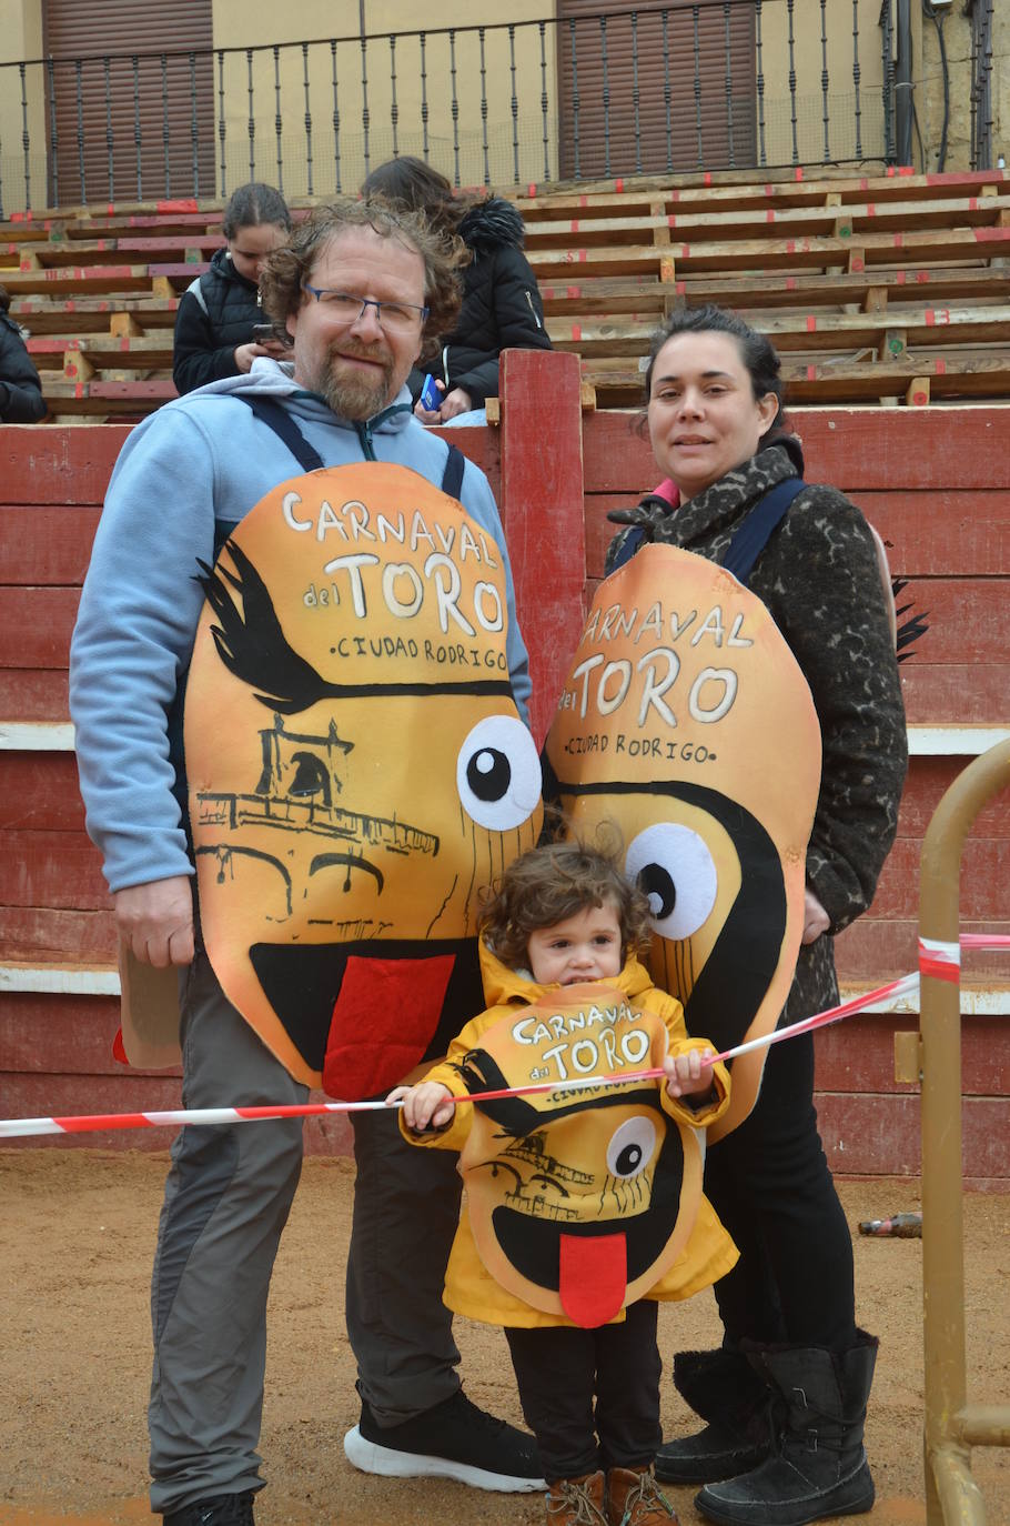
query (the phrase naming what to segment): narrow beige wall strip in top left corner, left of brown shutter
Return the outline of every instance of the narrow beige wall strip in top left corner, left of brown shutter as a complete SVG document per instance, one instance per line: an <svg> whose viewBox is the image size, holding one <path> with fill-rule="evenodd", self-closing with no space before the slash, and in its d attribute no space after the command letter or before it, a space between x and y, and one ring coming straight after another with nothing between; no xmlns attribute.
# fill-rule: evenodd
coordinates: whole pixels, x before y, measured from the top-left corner
<svg viewBox="0 0 1010 1526"><path fill-rule="evenodd" d="M40 67L5 67L43 56L41 0L0 0L0 197L3 214L46 206L46 90ZM27 189L24 116L31 140Z"/></svg>

